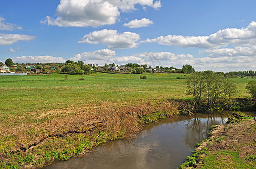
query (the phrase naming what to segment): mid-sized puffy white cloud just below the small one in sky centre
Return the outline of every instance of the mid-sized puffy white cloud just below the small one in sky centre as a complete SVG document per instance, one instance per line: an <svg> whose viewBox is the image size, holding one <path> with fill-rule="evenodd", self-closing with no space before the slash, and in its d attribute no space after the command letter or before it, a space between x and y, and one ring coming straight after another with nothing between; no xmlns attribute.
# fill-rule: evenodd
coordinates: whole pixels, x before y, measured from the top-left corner
<svg viewBox="0 0 256 169"><path fill-rule="evenodd" d="M139 39L139 34L133 32L118 33L117 30L103 29L84 35L78 43L103 43L108 45L110 49L134 48L138 46L137 41L139 41Z"/></svg>

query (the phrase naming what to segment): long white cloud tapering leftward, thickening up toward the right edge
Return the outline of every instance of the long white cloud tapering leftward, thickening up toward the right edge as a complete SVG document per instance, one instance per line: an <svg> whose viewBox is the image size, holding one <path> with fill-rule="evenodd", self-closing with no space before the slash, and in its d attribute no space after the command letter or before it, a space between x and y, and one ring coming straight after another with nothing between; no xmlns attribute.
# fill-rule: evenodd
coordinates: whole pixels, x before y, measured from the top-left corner
<svg viewBox="0 0 256 169"><path fill-rule="evenodd" d="M254 46L256 44L256 23L251 22L247 28L227 28L209 36L182 36L167 35L155 39L146 39L141 43L157 42L160 45L198 48L219 48L227 45L234 46Z"/></svg>

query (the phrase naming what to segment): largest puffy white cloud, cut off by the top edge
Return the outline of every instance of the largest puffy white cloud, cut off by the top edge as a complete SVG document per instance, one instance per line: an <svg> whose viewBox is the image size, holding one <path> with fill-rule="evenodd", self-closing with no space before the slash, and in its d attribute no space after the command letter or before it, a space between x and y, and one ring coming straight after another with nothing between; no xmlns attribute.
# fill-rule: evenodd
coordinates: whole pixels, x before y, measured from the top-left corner
<svg viewBox="0 0 256 169"><path fill-rule="evenodd" d="M160 1L153 0L61 0L57 10L57 18L46 16L42 24L57 26L97 27L116 23L120 12L135 10L135 5L161 7Z"/></svg>

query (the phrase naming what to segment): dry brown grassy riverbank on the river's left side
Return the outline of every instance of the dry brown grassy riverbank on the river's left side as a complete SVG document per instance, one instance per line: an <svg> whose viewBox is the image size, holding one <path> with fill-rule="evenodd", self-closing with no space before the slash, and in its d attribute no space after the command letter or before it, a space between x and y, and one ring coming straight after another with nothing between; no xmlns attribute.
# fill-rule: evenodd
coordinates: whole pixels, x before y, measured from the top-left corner
<svg viewBox="0 0 256 169"><path fill-rule="evenodd" d="M1 126L1 139L6 140L1 142L0 168L40 168L54 159L67 160L105 141L132 137L143 123L177 113L178 105L171 101L122 105L105 102L79 108L38 110L34 122ZM54 118L41 122L53 115ZM19 119L25 118L24 115Z"/></svg>

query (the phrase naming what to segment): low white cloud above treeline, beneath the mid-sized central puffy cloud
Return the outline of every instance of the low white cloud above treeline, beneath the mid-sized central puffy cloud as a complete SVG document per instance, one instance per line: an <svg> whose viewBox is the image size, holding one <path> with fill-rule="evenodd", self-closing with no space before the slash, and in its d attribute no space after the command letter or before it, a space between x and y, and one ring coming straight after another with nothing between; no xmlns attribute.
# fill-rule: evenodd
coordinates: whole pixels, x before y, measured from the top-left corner
<svg viewBox="0 0 256 169"><path fill-rule="evenodd" d="M97 50L94 52L83 52L82 54L77 54L74 57L71 57L70 60L78 61L87 61L87 60L109 60L116 55L115 51L109 49Z"/></svg>

